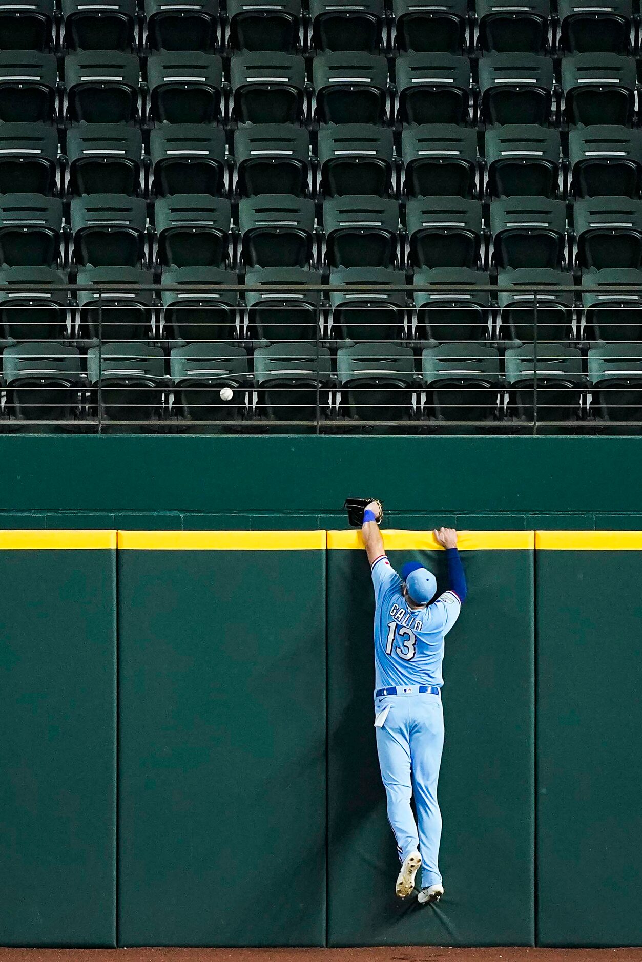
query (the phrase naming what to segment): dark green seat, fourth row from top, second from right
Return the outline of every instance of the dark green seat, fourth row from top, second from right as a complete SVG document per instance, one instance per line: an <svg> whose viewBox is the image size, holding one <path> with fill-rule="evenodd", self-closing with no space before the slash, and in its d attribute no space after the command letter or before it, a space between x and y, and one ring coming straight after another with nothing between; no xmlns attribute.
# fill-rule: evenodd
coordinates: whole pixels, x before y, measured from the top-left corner
<svg viewBox="0 0 642 962"><path fill-rule="evenodd" d="M491 204L493 260L498 267L561 267L566 208L547 197L501 197Z"/></svg>

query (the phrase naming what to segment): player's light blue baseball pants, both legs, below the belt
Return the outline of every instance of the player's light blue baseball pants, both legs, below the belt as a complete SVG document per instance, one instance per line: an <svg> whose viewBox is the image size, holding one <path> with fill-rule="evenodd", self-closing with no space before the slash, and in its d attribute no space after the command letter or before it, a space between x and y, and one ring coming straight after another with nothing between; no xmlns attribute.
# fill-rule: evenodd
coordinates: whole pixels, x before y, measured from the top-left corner
<svg viewBox="0 0 642 962"><path fill-rule="evenodd" d="M395 832L401 861L419 848L422 888L441 882L439 843L442 816L437 781L444 747L444 711L438 695L392 695L376 698L375 715L390 704L382 727L375 728L381 777L388 797L388 821ZM415 790L417 823L410 807Z"/></svg>

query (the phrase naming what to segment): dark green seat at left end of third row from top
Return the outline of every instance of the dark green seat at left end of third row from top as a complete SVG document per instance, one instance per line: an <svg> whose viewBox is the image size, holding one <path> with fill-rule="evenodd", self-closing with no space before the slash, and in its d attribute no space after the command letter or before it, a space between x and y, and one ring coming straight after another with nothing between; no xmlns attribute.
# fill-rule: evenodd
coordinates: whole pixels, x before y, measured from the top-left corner
<svg viewBox="0 0 642 962"><path fill-rule="evenodd" d="M56 192L58 137L39 123L0 123L0 193Z"/></svg>

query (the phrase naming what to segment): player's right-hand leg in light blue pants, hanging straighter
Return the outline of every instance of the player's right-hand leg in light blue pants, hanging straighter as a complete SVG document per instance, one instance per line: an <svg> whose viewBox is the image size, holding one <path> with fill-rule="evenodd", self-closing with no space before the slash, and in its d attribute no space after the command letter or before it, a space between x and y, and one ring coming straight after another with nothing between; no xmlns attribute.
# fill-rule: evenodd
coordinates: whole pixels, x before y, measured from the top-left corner
<svg viewBox="0 0 642 962"><path fill-rule="evenodd" d="M442 881L439 871L442 815L437 802L437 782L444 747L444 713L439 696L418 695L410 700L414 703L410 754L422 853L422 888L426 889Z"/></svg>

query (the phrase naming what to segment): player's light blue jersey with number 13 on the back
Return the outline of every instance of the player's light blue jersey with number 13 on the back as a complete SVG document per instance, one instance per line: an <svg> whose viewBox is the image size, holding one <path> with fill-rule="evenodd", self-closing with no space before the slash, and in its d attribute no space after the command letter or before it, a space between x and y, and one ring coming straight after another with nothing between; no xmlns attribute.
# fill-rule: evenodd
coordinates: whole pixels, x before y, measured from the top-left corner
<svg viewBox="0 0 642 962"><path fill-rule="evenodd" d="M374 688L444 684L444 638L459 618L461 602L444 592L426 608L413 610L403 582L385 554L372 562L374 585Z"/></svg>

